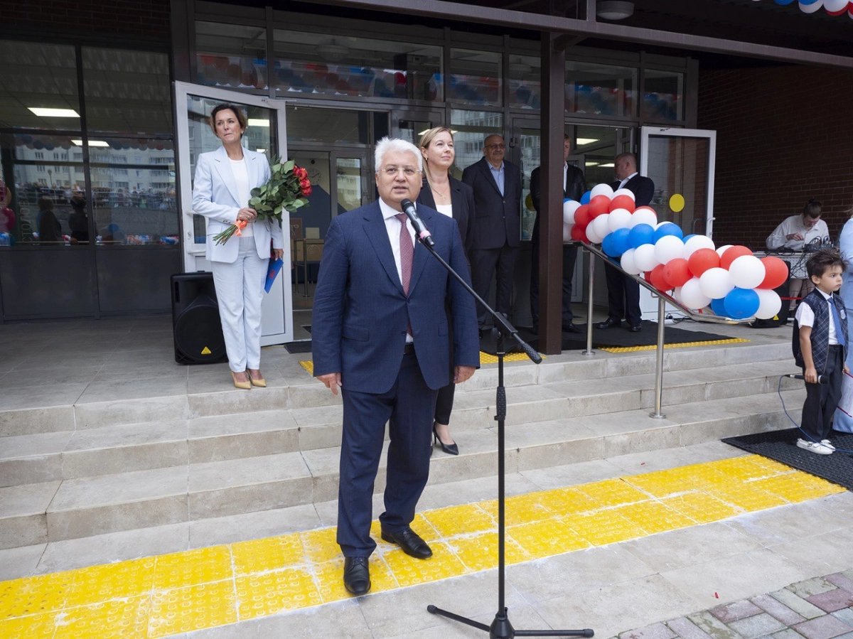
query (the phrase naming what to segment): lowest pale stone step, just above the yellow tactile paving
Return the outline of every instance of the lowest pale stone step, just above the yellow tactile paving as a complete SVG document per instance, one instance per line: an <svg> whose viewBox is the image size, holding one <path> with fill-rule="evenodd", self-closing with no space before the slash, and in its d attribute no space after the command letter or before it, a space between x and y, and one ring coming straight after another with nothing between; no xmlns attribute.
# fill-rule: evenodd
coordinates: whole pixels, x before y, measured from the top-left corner
<svg viewBox="0 0 853 639"><path fill-rule="evenodd" d="M782 396L789 410L796 411L804 390L787 390ZM509 410L506 470L699 444L790 423L775 389L671 405L664 412L664 419L653 419L640 407L531 422L513 418ZM461 455L437 451L431 482L493 476L495 422L454 433ZM326 447L2 488L0 548L328 502L337 497L338 458L337 447ZM382 460L384 465L384 455ZM384 478L380 468L377 492L384 490Z"/></svg>

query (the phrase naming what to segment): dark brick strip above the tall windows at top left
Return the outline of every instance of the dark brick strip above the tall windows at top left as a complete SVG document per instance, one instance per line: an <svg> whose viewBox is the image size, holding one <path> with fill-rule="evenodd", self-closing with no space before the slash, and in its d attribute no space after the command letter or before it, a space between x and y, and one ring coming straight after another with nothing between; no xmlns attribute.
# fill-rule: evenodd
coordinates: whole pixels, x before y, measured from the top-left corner
<svg viewBox="0 0 853 639"><path fill-rule="evenodd" d="M0 0L3 30L169 43L170 0ZM8 31L7 31L8 30Z"/></svg>

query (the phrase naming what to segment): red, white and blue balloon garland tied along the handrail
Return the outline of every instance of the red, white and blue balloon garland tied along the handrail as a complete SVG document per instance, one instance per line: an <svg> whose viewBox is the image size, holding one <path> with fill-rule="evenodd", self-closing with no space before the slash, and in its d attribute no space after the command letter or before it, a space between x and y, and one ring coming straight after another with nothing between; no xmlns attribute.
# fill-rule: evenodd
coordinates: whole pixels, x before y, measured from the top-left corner
<svg viewBox="0 0 853 639"><path fill-rule="evenodd" d="M716 248L710 237L688 235L672 222L658 222L650 206L635 206L628 189L598 184L581 201L563 202L563 241L601 243L622 268L690 309L711 305L724 317L769 319L782 300L773 289L786 282L779 258L758 259L747 247Z"/></svg>

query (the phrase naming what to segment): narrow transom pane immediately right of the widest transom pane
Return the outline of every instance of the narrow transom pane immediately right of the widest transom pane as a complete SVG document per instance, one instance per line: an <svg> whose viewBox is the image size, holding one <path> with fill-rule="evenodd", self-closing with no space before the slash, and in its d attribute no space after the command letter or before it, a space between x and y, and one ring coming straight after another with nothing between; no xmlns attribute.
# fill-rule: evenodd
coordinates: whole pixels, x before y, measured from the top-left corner
<svg viewBox="0 0 853 639"><path fill-rule="evenodd" d="M450 49L451 102L499 107L501 79L500 53Z"/></svg>

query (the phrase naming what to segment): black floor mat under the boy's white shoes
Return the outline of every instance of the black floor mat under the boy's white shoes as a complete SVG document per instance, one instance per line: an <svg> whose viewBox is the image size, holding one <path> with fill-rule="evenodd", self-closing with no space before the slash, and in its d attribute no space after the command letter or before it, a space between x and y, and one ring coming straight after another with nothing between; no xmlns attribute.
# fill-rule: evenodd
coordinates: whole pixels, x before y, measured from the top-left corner
<svg viewBox="0 0 853 639"><path fill-rule="evenodd" d="M783 431L728 437L722 441L746 452L769 457L791 468L817 475L853 491L853 454L843 451L853 450L853 433L833 431L829 439L838 450L832 455L816 455L798 448L797 439L802 436L798 428L787 428Z"/></svg>

